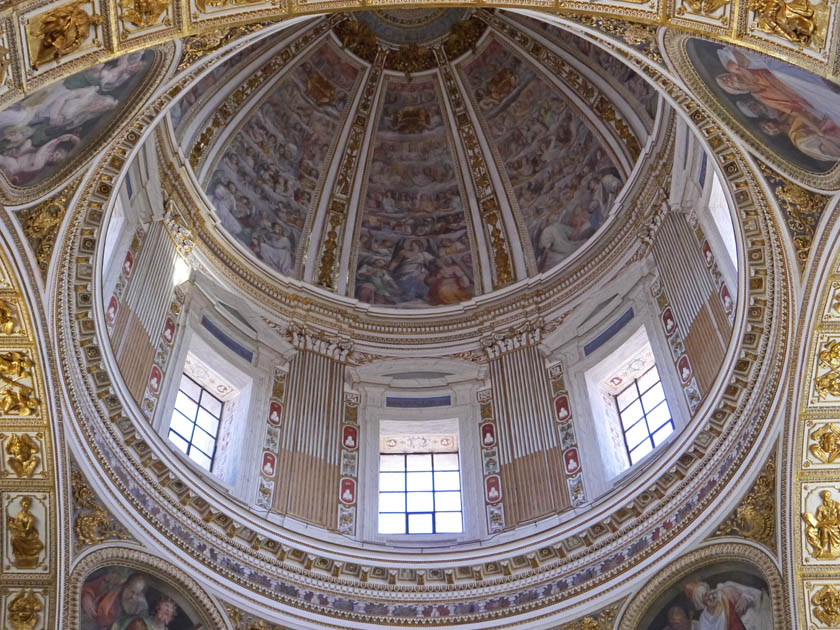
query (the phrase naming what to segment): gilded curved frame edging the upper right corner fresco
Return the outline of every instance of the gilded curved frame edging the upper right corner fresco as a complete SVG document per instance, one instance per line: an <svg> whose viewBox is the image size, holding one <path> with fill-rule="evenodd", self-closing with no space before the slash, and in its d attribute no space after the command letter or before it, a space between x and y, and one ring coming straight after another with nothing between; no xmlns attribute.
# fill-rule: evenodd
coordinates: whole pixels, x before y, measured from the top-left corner
<svg viewBox="0 0 840 630"><path fill-rule="evenodd" d="M664 36L664 54L666 63L673 67L675 74L682 78L694 96L705 105L723 124L734 132L744 144L762 160L772 165L778 171L792 180L806 186L820 190L840 189L840 161L825 173L814 173L806 171L787 160L779 157L775 151L767 147L755 134L736 121L720 104L718 99L709 91L706 83L697 73L694 64L688 57L685 50L686 43L690 39L702 39L717 44L733 46L733 44L721 42L720 40L702 35L686 35L669 31Z"/></svg>

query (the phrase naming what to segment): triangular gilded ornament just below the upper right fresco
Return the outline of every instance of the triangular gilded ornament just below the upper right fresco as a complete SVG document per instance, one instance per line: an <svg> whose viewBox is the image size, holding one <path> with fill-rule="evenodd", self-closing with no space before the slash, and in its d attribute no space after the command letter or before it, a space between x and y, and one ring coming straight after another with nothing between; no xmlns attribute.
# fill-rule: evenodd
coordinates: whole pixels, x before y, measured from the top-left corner
<svg viewBox="0 0 840 630"><path fill-rule="evenodd" d="M828 205L829 198L794 184L762 162L758 162L758 166L784 214L785 225L796 250L796 260L802 271L808 262L814 229Z"/></svg>

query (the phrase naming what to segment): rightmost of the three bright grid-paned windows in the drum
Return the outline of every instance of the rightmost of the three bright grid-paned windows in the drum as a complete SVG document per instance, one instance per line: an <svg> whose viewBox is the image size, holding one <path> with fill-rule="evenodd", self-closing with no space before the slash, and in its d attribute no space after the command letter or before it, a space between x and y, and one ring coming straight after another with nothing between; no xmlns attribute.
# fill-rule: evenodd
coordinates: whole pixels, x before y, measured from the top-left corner
<svg viewBox="0 0 840 630"><path fill-rule="evenodd" d="M615 404L631 465L674 432L674 420L655 365L616 394Z"/></svg>

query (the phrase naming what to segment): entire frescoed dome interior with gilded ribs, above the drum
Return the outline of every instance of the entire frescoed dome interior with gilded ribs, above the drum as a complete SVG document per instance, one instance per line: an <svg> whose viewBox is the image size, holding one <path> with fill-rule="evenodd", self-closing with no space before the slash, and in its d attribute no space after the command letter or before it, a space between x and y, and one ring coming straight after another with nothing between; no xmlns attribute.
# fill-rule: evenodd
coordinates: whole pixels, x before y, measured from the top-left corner
<svg viewBox="0 0 840 630"><path fill-rule="evenodd" d="M223 239L391 308L550 273L601 238L658 97L565 31L471 9L316 19L214 69L171 122Z"/></svg>

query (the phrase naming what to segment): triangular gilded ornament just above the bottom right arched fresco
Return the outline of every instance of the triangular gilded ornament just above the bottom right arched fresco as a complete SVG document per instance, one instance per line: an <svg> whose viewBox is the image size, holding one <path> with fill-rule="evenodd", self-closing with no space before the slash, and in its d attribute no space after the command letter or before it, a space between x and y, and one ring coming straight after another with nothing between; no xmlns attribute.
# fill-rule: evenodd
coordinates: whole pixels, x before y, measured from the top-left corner
<svg viewBox="0 0 840 630"><path fill-rule="evenodd" d="M747 496L715 530L715 536L742 536L775 548L776 455L770 456Z"/></svg>

